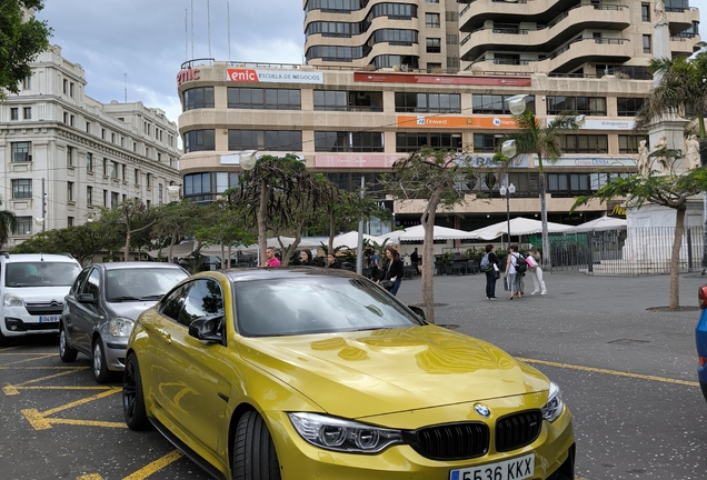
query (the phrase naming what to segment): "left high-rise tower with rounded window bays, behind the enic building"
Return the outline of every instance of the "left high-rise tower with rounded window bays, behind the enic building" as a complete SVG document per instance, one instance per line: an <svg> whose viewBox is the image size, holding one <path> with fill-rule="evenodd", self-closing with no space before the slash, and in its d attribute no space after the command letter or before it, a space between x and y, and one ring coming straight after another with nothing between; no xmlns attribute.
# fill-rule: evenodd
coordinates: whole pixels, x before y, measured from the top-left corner
<svg viewBox="0 0 707 480"><path fill-rule="evenodd" d="M311 66L459 70L456 0L303 0Z"/></svg>

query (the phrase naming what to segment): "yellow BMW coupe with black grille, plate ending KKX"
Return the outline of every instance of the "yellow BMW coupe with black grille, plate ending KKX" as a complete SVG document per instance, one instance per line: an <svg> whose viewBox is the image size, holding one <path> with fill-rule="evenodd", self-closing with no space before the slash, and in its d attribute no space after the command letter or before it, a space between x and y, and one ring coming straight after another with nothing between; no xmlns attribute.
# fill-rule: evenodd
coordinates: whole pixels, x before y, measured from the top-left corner
<svg viewBox="0 0 707 480"><path fill-rule="evenodd" d="M225 479L574 479L557 384L421 314L345 270L197 273L138 318L126 422Z"/></svg>

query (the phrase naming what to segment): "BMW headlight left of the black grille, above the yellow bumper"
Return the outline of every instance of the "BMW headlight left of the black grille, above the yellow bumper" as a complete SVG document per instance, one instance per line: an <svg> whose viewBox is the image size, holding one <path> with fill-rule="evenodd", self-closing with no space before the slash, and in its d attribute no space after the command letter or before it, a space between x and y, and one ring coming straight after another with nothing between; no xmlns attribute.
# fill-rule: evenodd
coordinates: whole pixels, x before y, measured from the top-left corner
<svg viewBox="0 0 707 480"><path fill-rule="evenodd" d="M295 430L309 443L349 453L377 453L402 443L400 430L384 429L318 413L288 413Z"/></svg>

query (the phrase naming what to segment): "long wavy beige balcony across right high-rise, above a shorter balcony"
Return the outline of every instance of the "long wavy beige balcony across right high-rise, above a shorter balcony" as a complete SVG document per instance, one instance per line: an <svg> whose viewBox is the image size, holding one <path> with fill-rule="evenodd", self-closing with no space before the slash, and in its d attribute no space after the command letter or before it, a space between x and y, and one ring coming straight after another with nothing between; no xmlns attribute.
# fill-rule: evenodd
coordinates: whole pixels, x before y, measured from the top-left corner
<svg viewBox="0 0 707 480"><path fill-rule="evenodd" d="M629 26L630 12L625 6L575 7L538 30L487 28L474 31L461 40L459 57L474 60L488 50L549 53L585 30L623 31Z"/></svg>

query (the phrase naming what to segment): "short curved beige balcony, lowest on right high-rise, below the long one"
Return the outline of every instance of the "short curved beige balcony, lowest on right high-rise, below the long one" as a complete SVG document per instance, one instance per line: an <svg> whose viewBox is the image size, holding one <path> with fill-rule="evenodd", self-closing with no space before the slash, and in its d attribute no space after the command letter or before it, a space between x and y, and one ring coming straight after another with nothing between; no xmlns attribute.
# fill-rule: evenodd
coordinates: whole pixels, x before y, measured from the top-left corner
<svg viewBox="0 0 707 480"><path fill-rule="evenodd" d="M631 59L633 46L627 39L577 39L542 60L542 69L551 73L569 73L584 63L624 63Z"/></svg>

